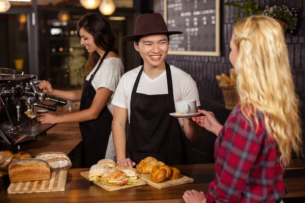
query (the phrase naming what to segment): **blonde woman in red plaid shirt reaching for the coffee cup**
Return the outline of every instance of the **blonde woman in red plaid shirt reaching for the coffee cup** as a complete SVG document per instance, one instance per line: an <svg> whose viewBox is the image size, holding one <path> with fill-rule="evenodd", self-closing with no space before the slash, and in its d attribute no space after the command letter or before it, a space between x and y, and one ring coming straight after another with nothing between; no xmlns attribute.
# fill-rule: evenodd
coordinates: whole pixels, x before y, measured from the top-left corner
<svg viewBox="0 0 305 203"><path fill-rule="evenodd" d="M230 62L237 73L240 101L224 126L214 114L195 117L214 132L216 179L207 194L184 193L185 202L281 202L284 168L292 150L301 151L299 100L280 24L251 16L233 29Z"/></svg>

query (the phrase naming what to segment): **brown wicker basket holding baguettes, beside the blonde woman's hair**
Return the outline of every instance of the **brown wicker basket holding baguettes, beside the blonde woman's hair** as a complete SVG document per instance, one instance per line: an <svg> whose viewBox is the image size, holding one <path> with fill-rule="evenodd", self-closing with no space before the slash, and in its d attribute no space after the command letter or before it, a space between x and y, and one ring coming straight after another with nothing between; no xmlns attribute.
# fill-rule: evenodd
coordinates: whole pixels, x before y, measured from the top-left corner
<svg viewBox="0 0 305 203"><path fill-rule="evenodd" d="M236 90L236 85L235 84L228 86L219 85L219 87L222 89L224 95L226 109L232 110L239 100L239 95Z"/></svg>

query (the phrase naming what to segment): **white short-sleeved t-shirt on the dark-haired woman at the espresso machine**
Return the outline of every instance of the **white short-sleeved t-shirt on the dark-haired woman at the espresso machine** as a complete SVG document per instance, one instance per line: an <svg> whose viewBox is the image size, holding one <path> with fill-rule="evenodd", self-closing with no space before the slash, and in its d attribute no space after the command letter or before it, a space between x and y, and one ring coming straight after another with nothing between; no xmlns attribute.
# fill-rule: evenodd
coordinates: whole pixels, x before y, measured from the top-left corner
<svg viewBox="0 0 305 203"><path fill-rule="evenodd" d="M90 74L86 77L88 81L91 75L97 70L97 67L100 63L100 60L95 65L94 69L90 72ZM109 100L107 101L107 108L110 113L113 115L113 105L111 104L111 100L114 96L114 92L116 90L118 81L121 76L124 74L124 65L120 58L109 57L104 59L101 67L93 78L91 84L93 88L98 91L99 88L107 88L113 92Z"/></svg>

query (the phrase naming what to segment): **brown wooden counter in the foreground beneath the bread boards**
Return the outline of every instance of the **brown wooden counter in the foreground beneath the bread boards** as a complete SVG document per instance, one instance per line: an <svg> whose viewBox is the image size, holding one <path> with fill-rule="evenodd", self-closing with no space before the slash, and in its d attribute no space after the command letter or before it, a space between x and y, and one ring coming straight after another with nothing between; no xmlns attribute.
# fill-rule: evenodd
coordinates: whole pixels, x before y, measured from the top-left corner
<svg viewBox="0 0 305 203"><path fill-rule="evenodd" d="M32 194L7 194L7 188L0 193L0 202L183 202L186 190L207 192L209 183L215 179L215 164L178 165L182 174L194 179L194 183L157 189L149 185L108 192L80 176L89 168L70 169L66 190ZM303 167L303 168L298 168ZM287 168L284 176L288 194L285 198L305 196L305 164L295 162ZM299 202L299 201L297 201Z"/></svg>

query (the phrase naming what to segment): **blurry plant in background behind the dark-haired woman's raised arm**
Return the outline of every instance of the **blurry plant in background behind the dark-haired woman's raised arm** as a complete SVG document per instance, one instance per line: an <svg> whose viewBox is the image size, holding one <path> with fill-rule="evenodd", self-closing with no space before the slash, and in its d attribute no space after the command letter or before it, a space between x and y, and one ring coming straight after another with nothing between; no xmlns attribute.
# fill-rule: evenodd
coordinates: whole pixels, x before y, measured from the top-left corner
<svg viewBox="0 0 305 203"><path fill-rule="evenodd" d="M85 64L87 60L81 55L70 56L69 63L65 65L67 74L65 77L70 78L70 85L80 86L81 88L84 85L85 78Z"/></svg>

